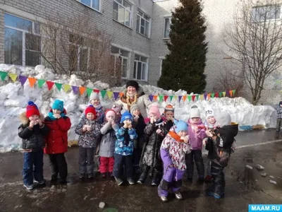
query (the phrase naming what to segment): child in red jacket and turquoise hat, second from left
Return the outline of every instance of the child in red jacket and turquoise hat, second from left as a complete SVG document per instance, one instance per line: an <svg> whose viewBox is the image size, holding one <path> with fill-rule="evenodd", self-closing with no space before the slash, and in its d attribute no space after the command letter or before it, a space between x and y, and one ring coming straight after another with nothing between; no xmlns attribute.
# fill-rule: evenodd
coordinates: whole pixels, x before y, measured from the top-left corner
<svg viewBox="0 0 282 212"><path fill-rule="evenodd" d="M63 101L55 100L44 122L51 130L46 136L44 148L44 153L49 155L51 181L56 181L59 173L60 182L66 183L68 166L64 153L68 151L68 130L71 128L71 119L66 116Z"/></svg>

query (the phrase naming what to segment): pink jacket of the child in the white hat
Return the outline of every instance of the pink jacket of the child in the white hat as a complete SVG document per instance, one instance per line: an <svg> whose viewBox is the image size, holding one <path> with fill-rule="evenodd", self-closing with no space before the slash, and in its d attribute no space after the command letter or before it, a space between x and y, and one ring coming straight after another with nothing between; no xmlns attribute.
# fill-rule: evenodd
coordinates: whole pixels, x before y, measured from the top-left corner
<svg viewBox="0 0 282 212"><path fill-rule="evenodd" d="M192 150L202 150L202 140L207 137L204 124L202 124L202 120L197 124L192 124L190 122L190 119L188 120L188 135L189 135L189 143L191 145ZM192 126L197 127L197 130L195 131L192 129Z"/></svg>

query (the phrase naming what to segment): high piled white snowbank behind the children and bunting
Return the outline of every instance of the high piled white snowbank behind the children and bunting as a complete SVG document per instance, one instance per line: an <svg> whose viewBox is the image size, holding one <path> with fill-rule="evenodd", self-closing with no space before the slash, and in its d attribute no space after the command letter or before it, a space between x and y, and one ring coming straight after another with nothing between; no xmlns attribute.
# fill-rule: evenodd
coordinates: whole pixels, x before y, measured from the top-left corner
<svg viewBox="0 0 282 212"><path fill-rule="evenodd" d="M30 67L18 67L6 64L0 64L0 71L7 71L8 73L16 73L18 75L35 77L37 79L44 79L53 81L55 83L68 84L70 86L85 86L87 88L95 89L108 89L109 85L102 82L92 83L91 81L82 81L75 75L68 77L66 75L56 75L50 69L45 69L44 66L36 66L35 69ZM163 90L154 86L142 86L146 94L157 95L187 95L184 90ZM120 92L124 90L121 88L109 88L109 90ZM88 98L87 93L83 95L79 93L75 95L70 89L65 93L63 88L59 91L56 86L48 90L47 84L44 83L42 88L30 88L29 81L27 80L24 86L21 86L19 81L15 83L11 78L6 77L2 82L0 80L0 152L11 151L13 149L20 149L21 140L18 137L18 126L20 120L18 116L20 113L25 112L25 107L29 100L34 101L39 107L42 114L47 115L47 111L55 99L63 100L65 103L68 117L71 118L72 127L68 133L70 141L78 139L75 134L75 126L78 124L78 119L82 110L87 106ZM100 95L101 98L101 95ZM111 107L114 100L109 100L107 95L102 100L102 105L105 108ZM207 107L212 107L215 111L225 110L231 114L232 121L238 122L240 126L263 124L266 127L274 127L276 122L276 111L271 106L253 106L244 98L214 98L212 100L198 100L196 102L178 102L178 98L173 99L172 102L159 102L161 112L163 112L166 104L172 103L175 105L176 119L187 120L189 118L189 108L196 104L200 107L202 119L205 119L204 110Z"/></svg>

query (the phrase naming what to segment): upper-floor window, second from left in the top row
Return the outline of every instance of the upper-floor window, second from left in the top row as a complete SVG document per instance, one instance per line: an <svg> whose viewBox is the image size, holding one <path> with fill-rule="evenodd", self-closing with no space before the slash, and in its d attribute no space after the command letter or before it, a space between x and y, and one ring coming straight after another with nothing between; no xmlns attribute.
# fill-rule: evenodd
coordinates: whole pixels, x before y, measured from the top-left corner
<svg viewBox="0 0 282 212"><path fill-rule="evenodd" d="M131 5L125 0L114 0L113 18L130 27Z"/></svg>

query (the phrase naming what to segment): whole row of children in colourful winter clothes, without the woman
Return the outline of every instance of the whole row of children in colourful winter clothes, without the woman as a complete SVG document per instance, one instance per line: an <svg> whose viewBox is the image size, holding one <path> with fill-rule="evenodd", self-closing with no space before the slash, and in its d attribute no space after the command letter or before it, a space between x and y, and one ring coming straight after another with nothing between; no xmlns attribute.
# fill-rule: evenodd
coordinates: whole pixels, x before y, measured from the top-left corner
<svg viewBox="0 0 282 212"><path fill-rule="evenodd" d="M142 117L138 105L121 114L122 108L114 105L103 110L99 95L90 95L90 105L80 117L75 133L79 135L80 178L94 177L94 155L97 154L99 172L103 178L114 177L118 185L126 179L144 184L152 176L152 186L158 186L162 201L167 201L171 189L176 199L185 171L192 179L194 161L200 181L212 179L207 194L221 198L224 194L223 168L228 163L238 125L231 124L231 117L221 112L218 117L207 110L207 122L202 123L197 106L190 109L188 122L174 118L174 108L166 105L164 114L153 104L149 117ZM66 116L61 100L55 100L45 119L34 102L28 102L26 112L20 115L22 124L18 135L23 139L23 184L34 188L34 182L44 184L43 152L49 155L51 180L66 183L67 164L64 153L68 149L68 130L71 121ZM207 176L204 177L202 146L209 151ZM34 168L33 168L34 165ZM124 176L125 175L125 176Z"/></svg>

